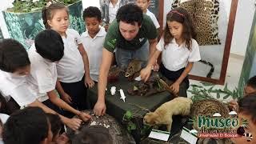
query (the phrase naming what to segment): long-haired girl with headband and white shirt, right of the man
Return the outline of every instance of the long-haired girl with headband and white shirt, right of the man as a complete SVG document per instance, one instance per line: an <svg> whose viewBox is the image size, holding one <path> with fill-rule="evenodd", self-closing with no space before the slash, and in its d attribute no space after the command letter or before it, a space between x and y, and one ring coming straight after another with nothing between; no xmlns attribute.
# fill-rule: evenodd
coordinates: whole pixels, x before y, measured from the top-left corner
<svg viewBox="0 0 256 144"><path fill-rule="evenodd" d="M163 37L156 46L157 50L150 58L148 65L141 71L141 77L146 81L150 77L151 68L158 56L162 53L160 72L174 83L170 89L178 93L180 85L185 82L186 89L190 82L187 75L198 62L200 51L198 42L194 40L196 34L190 14L183 8L170 10L166 16L166 28ZM180 95L186 97L186 95Z"/></svg>

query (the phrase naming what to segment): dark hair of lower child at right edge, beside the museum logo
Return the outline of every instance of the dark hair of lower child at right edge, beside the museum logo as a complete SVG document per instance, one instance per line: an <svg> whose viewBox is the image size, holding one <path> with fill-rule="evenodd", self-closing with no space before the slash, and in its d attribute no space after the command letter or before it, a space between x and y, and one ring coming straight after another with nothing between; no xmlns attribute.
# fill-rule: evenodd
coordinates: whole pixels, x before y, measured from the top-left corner
<svg viewBox="0 0 256 144"><path fill-rule="evenodd" d="M239 113L248 114L256 122L256 94L249 94L238 101Z"/></svg>

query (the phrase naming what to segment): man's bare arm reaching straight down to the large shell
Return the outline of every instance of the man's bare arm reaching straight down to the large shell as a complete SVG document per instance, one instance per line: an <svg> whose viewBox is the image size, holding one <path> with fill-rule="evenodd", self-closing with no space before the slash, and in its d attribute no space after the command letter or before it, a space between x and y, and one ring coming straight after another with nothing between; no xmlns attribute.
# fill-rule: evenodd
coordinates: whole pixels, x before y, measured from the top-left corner
<svg viewBox="0 0 256 144"><path fill-rule="evenodd" d="M107 76L110 71L110 66L114 54L103 48L102 50L102 65L99 70L98 77L98 100L94 106L94 114L103 115L106 113L105 105L105 90L107 83Z"/></svg>

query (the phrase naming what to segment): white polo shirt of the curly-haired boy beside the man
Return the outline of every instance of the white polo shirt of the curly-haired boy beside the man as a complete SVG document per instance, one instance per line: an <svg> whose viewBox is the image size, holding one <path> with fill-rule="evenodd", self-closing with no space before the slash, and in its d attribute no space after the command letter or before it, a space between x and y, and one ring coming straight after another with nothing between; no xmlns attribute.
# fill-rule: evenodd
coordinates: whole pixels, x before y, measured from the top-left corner
<svg viewBox="0 0 256 144"><path fill-rule="evenodd" d="M98 34L91 38L88 31L81 34L82 45L86 50L89 59L90 78L98 82L99 67L102 63L102 49L106 36L104 27L100 27Z"/></svg>

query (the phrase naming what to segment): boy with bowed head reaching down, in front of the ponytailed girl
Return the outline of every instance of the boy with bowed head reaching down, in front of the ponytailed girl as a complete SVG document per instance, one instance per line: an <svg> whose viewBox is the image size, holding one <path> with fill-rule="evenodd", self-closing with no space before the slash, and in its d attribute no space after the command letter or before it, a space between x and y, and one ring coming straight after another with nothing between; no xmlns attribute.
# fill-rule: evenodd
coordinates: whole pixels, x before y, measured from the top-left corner
<svg viewBox="0 0 256 144"><path fill-rule="evenodd" d="M83 121L87 121L90 119L89 114L75 110L61 98L58 98L54 91L57 82L56 63L63 57L63 54L64 45L60 34L54 30L40 32L34 40L34 46L29 50L31 70L27 82L30 90L46 106L57 111L60 107L78 115Z"/></svg>

